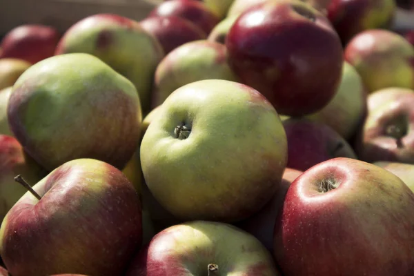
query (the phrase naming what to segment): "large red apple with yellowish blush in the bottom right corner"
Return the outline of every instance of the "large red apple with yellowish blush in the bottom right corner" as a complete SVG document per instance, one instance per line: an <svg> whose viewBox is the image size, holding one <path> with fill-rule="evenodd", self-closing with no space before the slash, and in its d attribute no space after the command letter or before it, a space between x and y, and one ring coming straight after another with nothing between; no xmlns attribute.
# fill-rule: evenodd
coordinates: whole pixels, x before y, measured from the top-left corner
<svg viewBox="0 0 414 276"><path fill-rule="evenodd" d="M317 164L290 185L276 220L283 275L411 276L414 193L364 161Z"/></svg>

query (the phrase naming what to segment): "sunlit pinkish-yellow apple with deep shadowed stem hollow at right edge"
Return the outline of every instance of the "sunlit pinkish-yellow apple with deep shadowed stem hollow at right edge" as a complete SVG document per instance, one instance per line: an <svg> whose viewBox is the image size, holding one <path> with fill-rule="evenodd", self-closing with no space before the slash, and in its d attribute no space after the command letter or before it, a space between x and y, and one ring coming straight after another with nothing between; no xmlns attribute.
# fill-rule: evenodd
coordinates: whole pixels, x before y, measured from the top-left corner
<svg viewBox="0 0 414 276"><path fill-rule="evenodd" d="M368 96L368 115L356 151L367 162L414 164L414 91L386 88Z"/></svg>

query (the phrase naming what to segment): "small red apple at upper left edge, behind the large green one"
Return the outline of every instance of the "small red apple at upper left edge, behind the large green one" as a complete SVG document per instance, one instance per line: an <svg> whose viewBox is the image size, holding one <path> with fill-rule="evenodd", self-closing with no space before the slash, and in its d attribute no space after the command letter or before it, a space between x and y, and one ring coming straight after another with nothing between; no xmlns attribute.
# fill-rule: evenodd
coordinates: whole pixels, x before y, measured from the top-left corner
<svg viewBox="0 0 414 276"><path fill-rule="evenodd" d="M0 58L23 59L37 63L52 57L60 34L52 26L25 24L13 28L1 40Z"/></svg>

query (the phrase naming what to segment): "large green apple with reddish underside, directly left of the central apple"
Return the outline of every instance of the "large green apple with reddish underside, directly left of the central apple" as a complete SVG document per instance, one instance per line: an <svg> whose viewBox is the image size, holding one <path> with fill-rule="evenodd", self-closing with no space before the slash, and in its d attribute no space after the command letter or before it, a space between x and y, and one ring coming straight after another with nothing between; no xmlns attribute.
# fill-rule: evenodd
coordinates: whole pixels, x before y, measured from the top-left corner
<svg viewBox="0 0 414 276"><path fill-rule="evenodd" d="M8 121L26 152L49 171L79 158L122 169L139 144L141 108L128 79L97 57L73 53L44 59L21 75Z"/></svg>

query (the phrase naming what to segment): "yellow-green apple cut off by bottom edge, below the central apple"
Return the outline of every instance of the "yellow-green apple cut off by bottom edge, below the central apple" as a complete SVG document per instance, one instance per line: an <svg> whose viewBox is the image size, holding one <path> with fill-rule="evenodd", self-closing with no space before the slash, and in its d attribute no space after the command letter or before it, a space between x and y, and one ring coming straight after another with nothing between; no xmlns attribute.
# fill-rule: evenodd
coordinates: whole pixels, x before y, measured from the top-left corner
<svg viewBox="0 0 414 276"><path fill-rule="evenodd" d="M158 233L126 276L278 276L272 255L253 235L230 224L189 221Z"/></svg>

